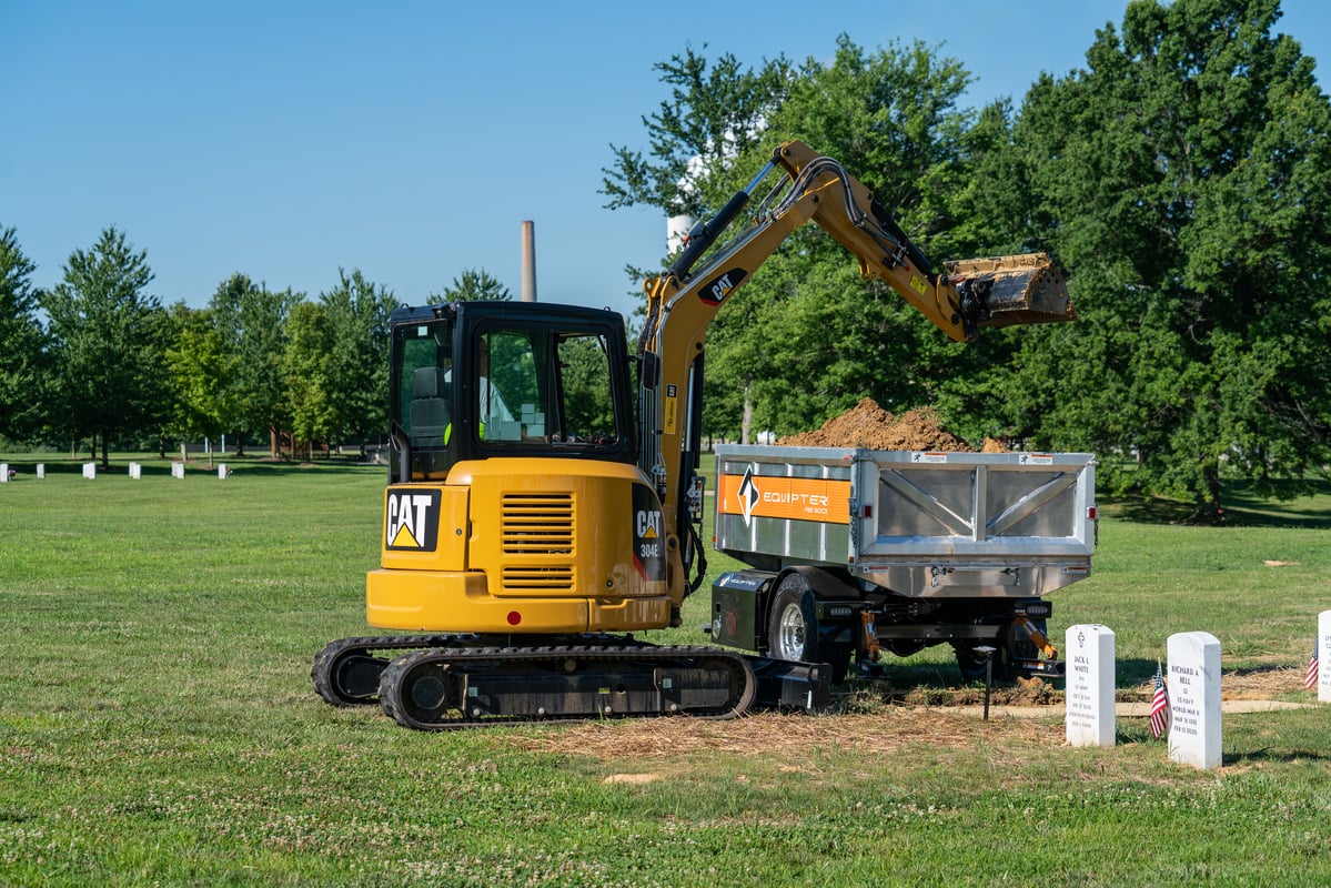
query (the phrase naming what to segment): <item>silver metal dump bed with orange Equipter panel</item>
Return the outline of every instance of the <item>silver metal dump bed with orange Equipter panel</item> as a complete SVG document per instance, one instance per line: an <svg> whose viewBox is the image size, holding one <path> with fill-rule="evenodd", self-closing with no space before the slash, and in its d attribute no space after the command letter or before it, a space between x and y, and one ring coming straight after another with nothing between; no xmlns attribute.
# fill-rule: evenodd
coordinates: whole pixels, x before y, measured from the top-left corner
<svg viewBox="0 0 1331 888"><path fill-rule="evenodd" d="M719 446L716 547L914 598L1028 598L1090 575L1095 459Z"/></svg>

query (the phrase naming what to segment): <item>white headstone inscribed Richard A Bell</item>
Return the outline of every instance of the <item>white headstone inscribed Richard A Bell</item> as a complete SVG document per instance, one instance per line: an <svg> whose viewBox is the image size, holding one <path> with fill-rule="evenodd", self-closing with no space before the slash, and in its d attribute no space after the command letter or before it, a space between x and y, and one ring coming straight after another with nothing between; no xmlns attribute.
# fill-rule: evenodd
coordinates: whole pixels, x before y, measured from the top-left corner
<svg viewBox="0 0 1331 888"><path fill-rule="evenodd" d="M1210 632L1169 636L1169 758L1221 767L1221 642Z"/></svg>

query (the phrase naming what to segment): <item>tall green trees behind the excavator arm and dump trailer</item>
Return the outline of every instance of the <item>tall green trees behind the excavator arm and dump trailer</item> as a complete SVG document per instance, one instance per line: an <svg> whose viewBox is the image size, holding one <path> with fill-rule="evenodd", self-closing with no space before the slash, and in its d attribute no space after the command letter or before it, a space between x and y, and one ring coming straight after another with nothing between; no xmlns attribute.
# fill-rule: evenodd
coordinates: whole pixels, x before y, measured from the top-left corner
<svg viewBox="0 0 1331 888"><path fill-rule="evenodd" d="M949 343L811 226L712 325L707 427L933 405L970 439L1098 453L1102 486L1198 521L1223 518L1229 479L1270 495L1326 477L1331 104L1279 17L1279 0L1133 0L1083 69L1017 107L961 107L972 76L918 43L658 64L669 97L647 150L614 148L608 206L705 217L800 138L934 260L1050 253L1079 316Z"/></svg>

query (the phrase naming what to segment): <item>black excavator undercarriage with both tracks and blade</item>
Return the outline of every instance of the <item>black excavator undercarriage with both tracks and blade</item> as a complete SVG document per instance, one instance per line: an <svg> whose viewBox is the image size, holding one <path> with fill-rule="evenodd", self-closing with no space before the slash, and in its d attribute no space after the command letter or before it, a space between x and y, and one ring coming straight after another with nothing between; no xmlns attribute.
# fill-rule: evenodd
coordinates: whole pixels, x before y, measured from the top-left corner
<svg viewBox="0 0 1331 888"><path fill-rule="evenodd" d="M567 643L559 643L567 640ZM345 638L310 678L333 706L378 703L422 731L630 716L735 718L753 704L827 708L829 670L630 636Z"/></svg>

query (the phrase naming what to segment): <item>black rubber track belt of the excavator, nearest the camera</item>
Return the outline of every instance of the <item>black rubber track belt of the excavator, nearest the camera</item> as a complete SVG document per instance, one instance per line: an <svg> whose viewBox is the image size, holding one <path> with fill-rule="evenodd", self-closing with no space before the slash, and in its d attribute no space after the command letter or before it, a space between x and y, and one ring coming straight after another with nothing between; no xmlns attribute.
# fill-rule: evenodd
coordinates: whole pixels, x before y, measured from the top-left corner
<svg viewBox="0 0 1331 888"><path fill-rule="evenodd" d="M421 722L413 718L402 706L402 682L417 667L423 663L536 663L540 660L602 660L607 663L635 660L639 663L675 664L679 660L725 660L735 664L736 672L743 676L744 684L736 699L728 708L709 710L703 712L683 712L689 718L724 720L743 715L757 690L757 679L753 670L741 655L715 647L671 646L662 647L648 643L624 644L620 639L618 646L552 646L552 647L451 647L434 648L406 654L393 660L379 679L379 704L383 711L398 724L418 731L450 731L473 727L498 727L515 723L546 724L554 722L586 722L598 718L596 714L572 714L554 716L530 715L491 715L486 718L467 718L465 714L458 718L442 722ZM660 718L662 712L616 712L614 718Z"/></svg>

